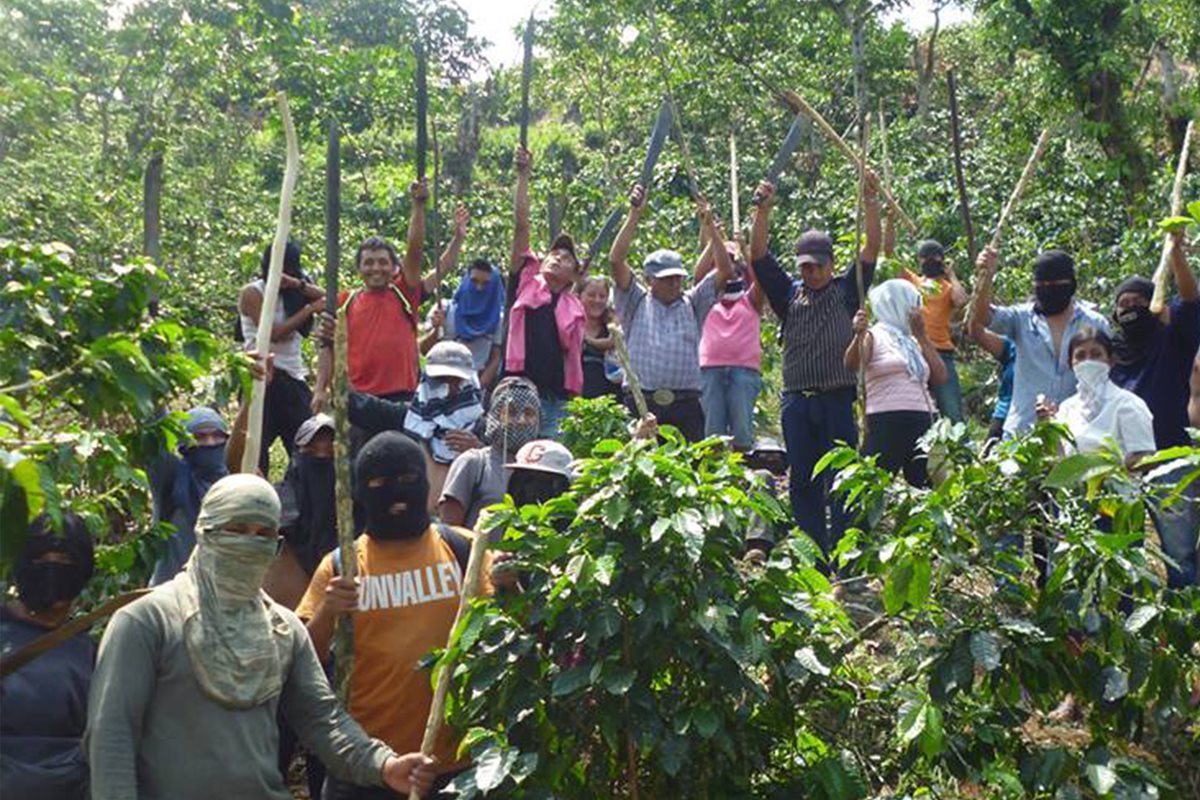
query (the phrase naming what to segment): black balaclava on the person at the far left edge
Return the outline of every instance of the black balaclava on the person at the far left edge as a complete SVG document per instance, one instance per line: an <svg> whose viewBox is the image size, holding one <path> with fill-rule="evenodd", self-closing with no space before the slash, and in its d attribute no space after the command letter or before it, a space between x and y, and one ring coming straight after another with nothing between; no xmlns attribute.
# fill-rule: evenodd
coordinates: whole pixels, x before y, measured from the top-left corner
<svg viewBox="0 0 1200 800"><path fill-rule="evenodd" d="M38 561L46 553L64 553L71 564ZM40 515L29 527L25 552L13 569L17 595L31 612L44 612L64 600L74 600L96 569L91 534L78 515L62 515L62 531Z"/></svg>

